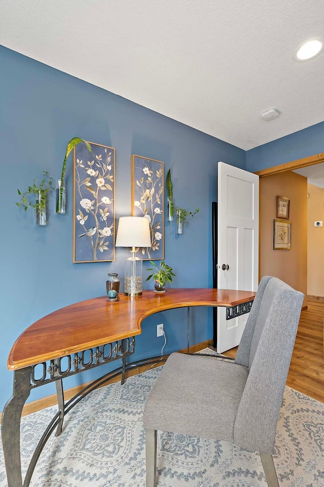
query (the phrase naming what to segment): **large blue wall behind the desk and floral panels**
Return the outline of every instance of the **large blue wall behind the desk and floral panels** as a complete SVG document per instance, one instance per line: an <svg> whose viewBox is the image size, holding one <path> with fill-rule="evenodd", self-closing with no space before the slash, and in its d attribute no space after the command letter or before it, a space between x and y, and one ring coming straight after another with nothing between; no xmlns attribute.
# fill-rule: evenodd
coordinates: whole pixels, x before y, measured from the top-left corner
<svg viewBox="0 0 324 487"><path fill-rule="evenodd" d="M245 168L246 153L3 47L0 66L2 408L13 381L6 361L19 334L58 308L103 295L107 273L122 277L128 254L127 249L117 248L114 262L72 263L71 156L66 172L67 214L55 214L52 195L46 227L34 226L32 210L24 213L15 205L17 188L27 189L34 178L42 178L43 170L57 180L66 144L73 136L114 147L117 221L131 210L131 154L164 161L165 175L171 168L175 204L200 208L182 236L175 234L175 223L165 224L165 259L177 274L174 287L208 287L212 285L211 202L217 200L217 162ZM146 289L151 286L145 284ZM211 316L203 308L192 311L192 343L211 338ZM143 323L136 341L138 358L160 353L164 340L156 338L155 325L161 322L168 337L164 352L185 346L186 310L168 311ZM66 379L65 387L100 375L104 372L100 369ZM53 385L36 389L30 399L54 390Z"/></svg>

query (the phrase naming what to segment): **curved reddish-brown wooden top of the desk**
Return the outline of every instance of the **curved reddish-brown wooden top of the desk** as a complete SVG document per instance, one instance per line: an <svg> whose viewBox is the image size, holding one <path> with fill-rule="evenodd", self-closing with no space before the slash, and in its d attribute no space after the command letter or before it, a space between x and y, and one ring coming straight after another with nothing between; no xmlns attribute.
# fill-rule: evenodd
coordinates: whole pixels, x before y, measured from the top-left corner
<svg viewBox="0 0 324 487"><path fill-rule="evenodd" d="M87 299L54 311L30 325L15 341L10 370L139 335L142 321L158 311L186 306L235 306L252 301L254 292L227 289L168 289L157 294L107 301Z"/></svg>

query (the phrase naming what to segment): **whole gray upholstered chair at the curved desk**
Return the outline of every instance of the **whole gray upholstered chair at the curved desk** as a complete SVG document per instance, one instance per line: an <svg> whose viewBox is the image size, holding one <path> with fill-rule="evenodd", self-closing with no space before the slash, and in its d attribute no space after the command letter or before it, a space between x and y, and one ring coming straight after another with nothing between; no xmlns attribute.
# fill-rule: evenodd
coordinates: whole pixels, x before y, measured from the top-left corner
<svg viewBox="0 0 324 487"><path fill-rule="evenodd" d="M259 451L268 486L279 486L274 437L303 298L264 276L233 362L170 355L144 408L146 487L155 485L156 430Z"/></svg>

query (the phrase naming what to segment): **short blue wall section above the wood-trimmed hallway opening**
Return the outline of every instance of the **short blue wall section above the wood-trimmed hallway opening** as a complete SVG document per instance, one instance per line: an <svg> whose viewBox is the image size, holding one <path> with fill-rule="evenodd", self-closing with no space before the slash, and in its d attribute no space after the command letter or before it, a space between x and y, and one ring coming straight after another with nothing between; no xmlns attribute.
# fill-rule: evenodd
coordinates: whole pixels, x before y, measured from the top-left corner
<svg viewBox="0 0 324 487"><path fill-rule="evenodd" d="M247 152L246 168L260 171L321 152L324 152L324 122L251 149Z"/></svg>

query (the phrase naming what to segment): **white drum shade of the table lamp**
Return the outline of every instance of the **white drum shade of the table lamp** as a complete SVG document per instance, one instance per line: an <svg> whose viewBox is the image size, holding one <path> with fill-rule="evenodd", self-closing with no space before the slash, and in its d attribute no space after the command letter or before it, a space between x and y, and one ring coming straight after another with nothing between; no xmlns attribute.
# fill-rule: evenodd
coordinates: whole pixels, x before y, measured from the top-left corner
<svg viewBox="0 0 324 487"><path fill-rule="evenodd" d="M148 218L120 217L116 247L151 247L151 234Z"/></svg>

